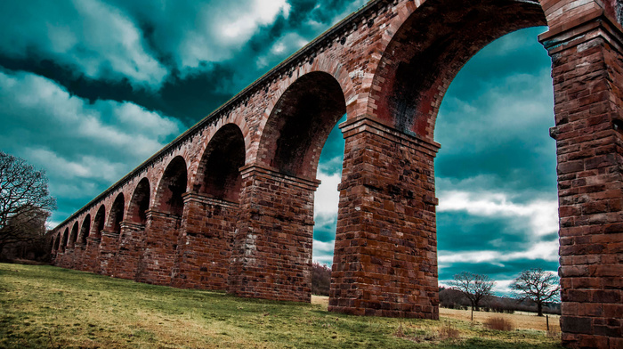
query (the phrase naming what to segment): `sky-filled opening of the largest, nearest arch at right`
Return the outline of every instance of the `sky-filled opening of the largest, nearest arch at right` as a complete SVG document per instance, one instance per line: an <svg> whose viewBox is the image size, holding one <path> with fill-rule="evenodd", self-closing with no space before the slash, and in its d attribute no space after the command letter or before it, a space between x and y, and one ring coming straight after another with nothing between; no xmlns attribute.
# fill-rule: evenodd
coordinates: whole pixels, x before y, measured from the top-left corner
<svg viewBox="0 0 623 349"><path fill-rule="evenodd" d="M473 272L496 280L497 296L510 296L522 270L558 270L556 149L547 132L554 94L537 39L545 30L524 28L475 53L441 103L434 132L442 144L435 158L442 287ZM449 291L440 300L457 301Z"/></svg>

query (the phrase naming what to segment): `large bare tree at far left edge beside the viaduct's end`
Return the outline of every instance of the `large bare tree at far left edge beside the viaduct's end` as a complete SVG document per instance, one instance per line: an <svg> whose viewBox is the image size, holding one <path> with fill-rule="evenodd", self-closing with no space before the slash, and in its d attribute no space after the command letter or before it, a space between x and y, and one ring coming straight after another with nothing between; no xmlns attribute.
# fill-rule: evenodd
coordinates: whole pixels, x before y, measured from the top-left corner
<svg viewBox="0 0 623 349"><path fill-rule="evenodd" d="M0 151L0 252L9 244L40 239L45 230L36 227L54 208L44 171Z"/></svg>

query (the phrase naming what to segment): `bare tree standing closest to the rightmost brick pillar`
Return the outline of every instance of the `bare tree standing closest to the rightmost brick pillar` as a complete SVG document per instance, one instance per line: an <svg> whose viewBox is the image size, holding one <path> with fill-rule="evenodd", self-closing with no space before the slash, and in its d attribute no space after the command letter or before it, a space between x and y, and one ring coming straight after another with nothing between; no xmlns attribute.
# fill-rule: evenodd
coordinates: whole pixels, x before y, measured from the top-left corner
<svg viewBox="0 0 623 349"><path fill-rule="evenodd" d="M560 300L560 278L541 268L523 271L513 281L511 289L518 300L536 303L538 316L543 316L543 304Z"/></svg>

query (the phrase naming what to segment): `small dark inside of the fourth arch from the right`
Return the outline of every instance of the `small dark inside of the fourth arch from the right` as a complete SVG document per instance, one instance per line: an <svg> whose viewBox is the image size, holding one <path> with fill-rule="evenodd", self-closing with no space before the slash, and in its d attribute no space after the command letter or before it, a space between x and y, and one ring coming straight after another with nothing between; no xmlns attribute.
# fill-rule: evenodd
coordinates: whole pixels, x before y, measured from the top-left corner
<svg viewBox="0 0 623 349"><path fill-rule="evenodd" d="M182 194L186 192L187 183L186 161L177 156L166 166L165 173L160 179L155 202L158 210L181 216L184 208Z"/></svg>

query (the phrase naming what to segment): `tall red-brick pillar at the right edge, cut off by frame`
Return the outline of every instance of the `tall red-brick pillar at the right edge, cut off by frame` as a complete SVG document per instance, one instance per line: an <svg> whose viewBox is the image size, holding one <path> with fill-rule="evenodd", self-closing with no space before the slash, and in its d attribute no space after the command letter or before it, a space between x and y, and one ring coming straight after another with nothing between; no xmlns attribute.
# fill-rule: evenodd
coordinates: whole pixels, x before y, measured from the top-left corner
<svg viewBox="0 0 623 349"><path fill-rule="evenodd" d="M562 344L623 347L623 32L600 10L539 40L554 79Z"/></svg>

